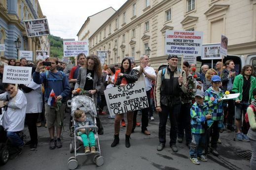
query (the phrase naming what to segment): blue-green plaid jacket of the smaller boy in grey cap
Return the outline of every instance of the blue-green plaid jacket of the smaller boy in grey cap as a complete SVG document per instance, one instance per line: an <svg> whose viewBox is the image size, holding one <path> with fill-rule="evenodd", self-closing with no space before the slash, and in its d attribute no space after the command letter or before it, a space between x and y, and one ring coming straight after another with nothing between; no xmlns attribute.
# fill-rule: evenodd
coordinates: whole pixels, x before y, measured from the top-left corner
<svg viewBox="0 0 256 170"><path fill-rule="evenodd" d="M191 132L192 134L204 134L205 128L204 124L207 121L205 115L208 114L208 106L203 103L198 105L196 102L192 105L190 109L191 116Z"/></svg>

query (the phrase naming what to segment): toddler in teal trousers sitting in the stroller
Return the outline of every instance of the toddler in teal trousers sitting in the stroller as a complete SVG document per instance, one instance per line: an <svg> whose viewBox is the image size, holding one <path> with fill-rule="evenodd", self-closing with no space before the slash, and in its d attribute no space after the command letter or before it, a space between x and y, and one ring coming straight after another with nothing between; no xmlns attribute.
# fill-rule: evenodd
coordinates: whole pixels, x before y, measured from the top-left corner
<svg viewBox="0 0 256 170"><path fill-rule="evenodd" d="M81 111L81 110L74 111L74 119L75 119L74 129L76 129L80 126L94 125L94 123L91 120L86 118L84 111ZM77 134L83 140L84 152L85 153L90 152L90 147L89 147L89 142L90 142L91 153L95 153L96 152L95 138L94 138L93 131L90 131L88 134L86 134L85 129L79 129ZM89 142L88 142L88 138L89 138Z"/></svg>

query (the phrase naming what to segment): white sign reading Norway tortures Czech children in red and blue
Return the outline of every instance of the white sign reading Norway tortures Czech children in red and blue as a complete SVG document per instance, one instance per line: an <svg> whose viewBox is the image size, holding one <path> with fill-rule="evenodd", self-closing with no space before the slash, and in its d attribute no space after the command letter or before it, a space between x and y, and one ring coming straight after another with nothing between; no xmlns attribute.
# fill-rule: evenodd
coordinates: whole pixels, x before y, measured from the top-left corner
<svg viewBox="0 0 256 170"><path fill-rule="evenodd" d="M87 41L63 41L64 57L76 57L83 53L85 56L89 55Z"/></svg>

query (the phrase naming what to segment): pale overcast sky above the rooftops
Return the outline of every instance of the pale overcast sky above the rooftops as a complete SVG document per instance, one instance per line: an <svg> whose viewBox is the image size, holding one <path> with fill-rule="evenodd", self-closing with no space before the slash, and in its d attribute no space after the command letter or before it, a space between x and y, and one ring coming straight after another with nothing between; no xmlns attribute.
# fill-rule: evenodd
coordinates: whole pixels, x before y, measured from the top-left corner
<svg viewBox="0 0 256 170"><path fill-rule="evenodd" d="M88 16L108 7L118 10L126 0L38 0L48 19L50 32L61 38L75 38ZM103 24L103 23L102 23Z"/></svg>

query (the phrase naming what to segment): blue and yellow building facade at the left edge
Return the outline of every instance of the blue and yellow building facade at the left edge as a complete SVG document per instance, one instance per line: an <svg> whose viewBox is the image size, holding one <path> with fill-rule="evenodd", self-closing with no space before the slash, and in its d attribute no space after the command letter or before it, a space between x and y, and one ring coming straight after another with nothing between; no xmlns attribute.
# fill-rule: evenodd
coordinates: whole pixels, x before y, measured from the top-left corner
<svg viewBox="0 0 256 170"><path fill-rule="evenodd" d="M47 36L28 38L24 21L43 18L38 0L0 0L0 44L5 44L5 51L0 52L1 58L17 59L17 50L14 41L19 38L19 50L33 51L36 60L36 50L49 54L49 41ZM40 40L41 39L41 44Z"/></svg>

